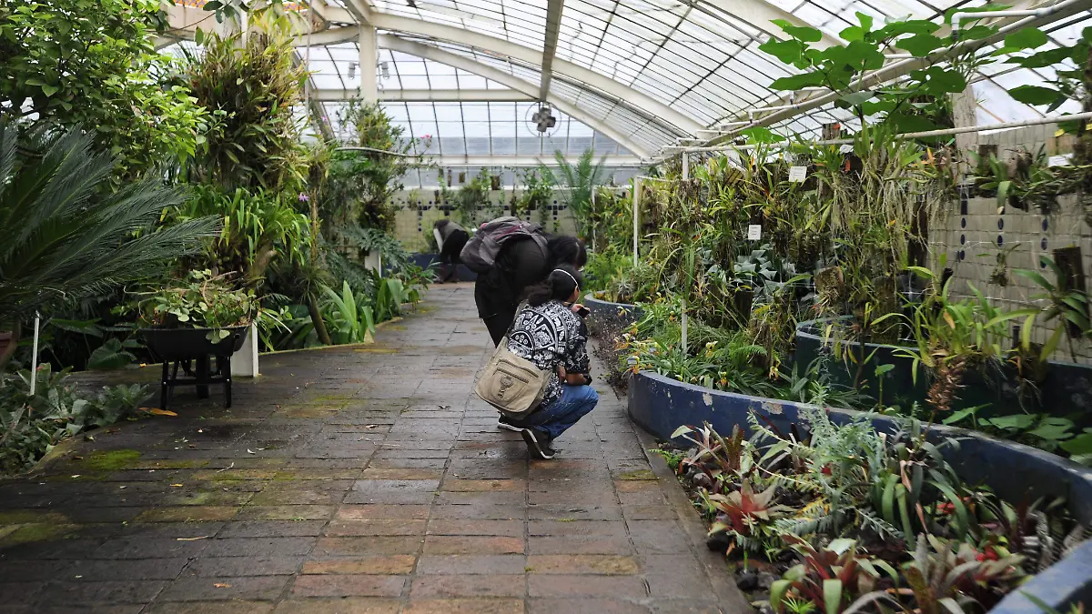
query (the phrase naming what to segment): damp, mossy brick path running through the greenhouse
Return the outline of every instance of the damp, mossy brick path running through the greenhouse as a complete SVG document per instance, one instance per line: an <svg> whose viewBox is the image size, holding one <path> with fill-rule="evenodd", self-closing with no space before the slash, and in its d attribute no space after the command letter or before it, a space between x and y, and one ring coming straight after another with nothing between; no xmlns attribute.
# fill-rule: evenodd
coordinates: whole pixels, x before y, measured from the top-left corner
<svg viewBox="0 0 1092 614"><path fill-rule="evenodd" d="M375 345L263 358L230 411L180 392L0 482L0 612L741 612L624 402L597 383L529 461L472 397L490 349L435 286Z"/></svg>

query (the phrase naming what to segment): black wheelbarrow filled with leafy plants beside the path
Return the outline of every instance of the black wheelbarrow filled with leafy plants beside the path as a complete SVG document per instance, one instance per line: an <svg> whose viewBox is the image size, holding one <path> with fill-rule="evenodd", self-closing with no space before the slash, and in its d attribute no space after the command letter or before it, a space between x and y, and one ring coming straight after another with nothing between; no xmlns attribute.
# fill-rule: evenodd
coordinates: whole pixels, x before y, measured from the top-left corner
<svg viewBox="0 0 1092 614"><path fill-rule="evenodd" d="M136 296L122 310L136 311L138 333L152 357L163 363L161 409L167 409L176 386L197 386L198 397L205 399L212 383L224 385L224 405L230 408L232 354L261 314L254 291L202 270Z"/></svg>

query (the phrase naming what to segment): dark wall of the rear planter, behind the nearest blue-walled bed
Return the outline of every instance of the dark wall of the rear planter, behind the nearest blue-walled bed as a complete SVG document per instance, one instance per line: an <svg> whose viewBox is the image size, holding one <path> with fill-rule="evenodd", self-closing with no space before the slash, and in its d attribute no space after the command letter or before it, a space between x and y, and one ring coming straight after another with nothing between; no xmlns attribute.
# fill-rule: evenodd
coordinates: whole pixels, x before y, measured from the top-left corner
<svg viewBox="0 0 1092 614"><path fill-rule="evenodd" d="M842 318L844 319L844 318ZM827 327L835 319L811 320L800 322L796 328L796 364L807 367L811 361L833 352L829 344L823 343ZM899 355L899 347L876 343L842 342L843 352L852 352L855 357L871 357L859 369L860 383L867 386L868 393L876 395L879 381L876 367L893 365L894 368L883 376L883 401L910 404L925 402L928 382L924 373L918 373L917 381L913 378L913 363L910 358ZM853 387L858 371L856 363L833 361L830 375L836 383ZM968 371L963 388L952 403L953 409L973 408L987 404L981 415L1012 414L1020 411L1047 413L1075 420L1081 426L1092 425L1092 367L1048 361L1045 378L1038 382L1037 402L1033 395L1025 394L1024 406L1019 400L1018 382L1013 377L1005 377L1001 371L990 374L989 380L980 371Z"/></svg>

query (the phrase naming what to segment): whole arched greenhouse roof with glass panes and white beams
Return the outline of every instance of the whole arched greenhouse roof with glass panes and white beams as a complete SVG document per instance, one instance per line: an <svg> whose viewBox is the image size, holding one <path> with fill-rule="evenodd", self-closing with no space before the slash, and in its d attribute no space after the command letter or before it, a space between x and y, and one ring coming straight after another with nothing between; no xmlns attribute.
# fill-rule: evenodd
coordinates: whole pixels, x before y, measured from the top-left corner
<svg viewBox="0 0 1092 614"><path fill-rule="evenodd" d="M1016 0L1017 8L1052 2ZM192 31L204 0L179 1L173 25ZM820 46L844 45L839 33L857 13L877 23L936 19L980 0L316 0L288 7L312 26L299 55L312 70L310 95L334 117L341 101L376 93L407 133L435 137L432 153L459 156L579 155L592 147L624 163L651 158L677 139L703 140L748 111L821 93L770 88L795 69L759 49L784 38L772 20L822 32ZM1071 44L1092 15L1076 0L1042 20L1047 46ZM1068 5L1068 4L1067 4ZM1011 23L1001 19L998 23ZM1092 23L1092 22L1089 22ZM1037 24L1036 24L1037 25ZM361 42L365 44L361 54ZM996 43L993 47L998 47ZM371 55L368 47L378 52ZM988 48L987 48L988 51ZM376 63L375 81L363 74ZM883 71L900 76L900 58ZM890 69L890 71L889 71ZM887 75L888 72L885 72ZM361 83L364 76L364 83ZM1042 117L1007 88L1041 82L1049 69L994 63L972 80L980 123ZM558 125L539 137L531 115L553 105ZM808 106L808 105L805 105ZM814 106L814 105L812 105ZM816 134L823 123L854 122L830 104L775 114L784 133ZM1059 113L1075 110L1061 107ZM764 115L758 111L758 117ZM753 115L753 113L751 114ZM772 116L771 116L772 118ZM537 143L534 141L538 141Z"/></svg>

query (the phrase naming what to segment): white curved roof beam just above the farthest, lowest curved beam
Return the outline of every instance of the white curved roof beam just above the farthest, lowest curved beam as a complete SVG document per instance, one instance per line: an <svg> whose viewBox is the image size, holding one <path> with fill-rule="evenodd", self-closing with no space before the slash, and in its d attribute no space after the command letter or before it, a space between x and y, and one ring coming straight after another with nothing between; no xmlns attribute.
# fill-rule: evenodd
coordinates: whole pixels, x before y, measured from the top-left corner
<svg viewBox="0 0 1092 614"><path fill-rule="evenodd" d="M467 45L498 56L514 58L533 67L541 67L543 64L543 52L537 49L462 27L379 12L371 13L371 24L379 29L390 29ZM609 94L620 104L641 113L646 118L658 119L661 122L674 127L679 135L696 134L698 130L705 128L695 119L682 115L677 109L652 96L642 94L628 85L593 70L561 59L554 59L550 68L557 74L563 74Z"/></svg>

